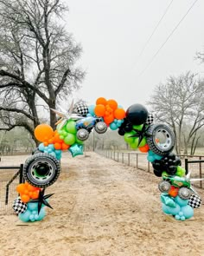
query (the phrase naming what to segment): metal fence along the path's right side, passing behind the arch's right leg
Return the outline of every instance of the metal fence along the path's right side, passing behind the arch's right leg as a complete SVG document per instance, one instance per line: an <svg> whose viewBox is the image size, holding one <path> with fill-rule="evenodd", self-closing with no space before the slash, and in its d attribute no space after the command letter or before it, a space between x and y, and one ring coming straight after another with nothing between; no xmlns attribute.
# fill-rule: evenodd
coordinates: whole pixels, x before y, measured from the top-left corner
<svg viewBox="0 0 204 256"><path fill-rule="evenodd" d="M137 152L123 152L114 150L97 150L98 154L104 155L114 161L124 163L131 167L153 174L153 167L147 160L147 154ZM191 178L204 178L204 156L201 155L179 155L182 160L182 167L191 171ZM203 181L194 183L195 187L203 188Z"/></svg>

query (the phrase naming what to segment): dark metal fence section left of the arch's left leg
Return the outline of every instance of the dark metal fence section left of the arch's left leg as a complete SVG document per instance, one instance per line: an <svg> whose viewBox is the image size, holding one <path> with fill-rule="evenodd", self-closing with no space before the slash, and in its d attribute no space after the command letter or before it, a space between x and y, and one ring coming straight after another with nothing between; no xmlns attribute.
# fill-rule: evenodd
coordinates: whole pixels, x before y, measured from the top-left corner
<svg viewBox="0 0 204 256"><path fill-rule="evenodd" d="M0 215L14 213L12 204L16 199L16 186L23 182L20 166L0 167Z"/></svg>

